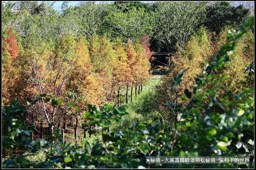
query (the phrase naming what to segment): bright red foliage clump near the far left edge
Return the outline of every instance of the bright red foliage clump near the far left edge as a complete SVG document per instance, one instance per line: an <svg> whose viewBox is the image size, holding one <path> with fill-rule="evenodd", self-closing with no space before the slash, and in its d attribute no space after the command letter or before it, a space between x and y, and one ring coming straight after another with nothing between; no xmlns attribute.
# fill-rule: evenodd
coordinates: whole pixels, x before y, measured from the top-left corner
<svg viewBox="0 0 256 170"><path fill-rule="evenodd" d="M18 43L16 42L16 36L12 35L12 28L9 29L8 35L9 37L3 39L2 41L5 41L7 44L9 44L8 52L10 53L10 58L14 60L18 56L19 47Z"/></svg>

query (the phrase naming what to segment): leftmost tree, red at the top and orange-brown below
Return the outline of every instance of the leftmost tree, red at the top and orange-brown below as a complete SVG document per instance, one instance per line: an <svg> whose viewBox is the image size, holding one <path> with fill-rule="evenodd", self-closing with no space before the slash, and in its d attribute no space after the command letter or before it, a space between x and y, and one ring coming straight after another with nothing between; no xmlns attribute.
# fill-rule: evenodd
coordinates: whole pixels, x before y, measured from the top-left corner
<svg viewBox="0 0 256 170"><path fill-rule="evenodd" d="M17 96L23 96L25 76L23 62L19 57L19 46L12 28L2 34L2 106L10 105ZM16 59L17 58L17 59Z"/></svg>

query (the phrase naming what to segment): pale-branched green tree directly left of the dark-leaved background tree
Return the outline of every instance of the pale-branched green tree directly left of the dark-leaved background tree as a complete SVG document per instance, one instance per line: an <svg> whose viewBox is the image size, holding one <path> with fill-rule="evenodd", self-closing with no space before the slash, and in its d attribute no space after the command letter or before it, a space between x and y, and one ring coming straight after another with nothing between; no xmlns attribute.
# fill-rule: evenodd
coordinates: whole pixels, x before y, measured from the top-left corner
<svg viewBox="0 0 256 170"><path fill-rule="evenodd" d="M182 50L196 27L204 20L205 2L160 2L156 38L174 52L176 43Z"/></svg>

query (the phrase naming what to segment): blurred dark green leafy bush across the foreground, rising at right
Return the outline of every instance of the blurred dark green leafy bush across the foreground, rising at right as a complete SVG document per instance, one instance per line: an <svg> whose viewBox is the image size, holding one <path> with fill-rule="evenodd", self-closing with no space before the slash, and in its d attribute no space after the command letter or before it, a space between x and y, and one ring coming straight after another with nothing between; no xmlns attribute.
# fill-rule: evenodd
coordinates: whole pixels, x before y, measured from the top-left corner
<svg viewBox="0 0 256 170"><path fill-rule="evenodd" d="M202 73L197 75L193 92L185 90L182 100L189 104L184 107L171 102L170 112L175 123L163 121L147 128L148 122L134 123L133 128L115 133L108 132L111 124L121 122L121 116L128 114L126 106L116 107L104 104L103 108L89 105L82 127L89 134L98 136L98 141L86 141L84 149L61 143L59 130L54 132L58 142L44 139L29 139L31 130L25 127L26 107L17 105L2 108L3 151L8 158L3 168L251 168L254 165L254 90L244 89L237 95L236 103L219 96L220 89L228 75L212 74L229 62L236 42L253 26L254 18L245 23L235 34L228 32L227 42L215 58L205 62ZM182 82L186 70L172 82L171 91ZM206 84L210 90L202 90ZM218 99L218 100L217 100ZM212 109L219 107L224 114ZM217 109L218 110L218 109ZM20 120L17 116L20 116ZM23 118L23 119L22 119ZM173 126L174 125L174 126ZM88 128L92 127L92 128ZM54 140L54 139L52 139ZM22 146L27 154L15 157L11 154L14 146ZM50 149L52 148L52 149ZM10 151L8 153L8 151ZM46 153L45 161L30 162L26 157L36 152ZM90 152L89 152L90 151ZM3 155L3 153L2 153ZM249 156L250 165L242 164L146 164L146 156Z"/></svg>

